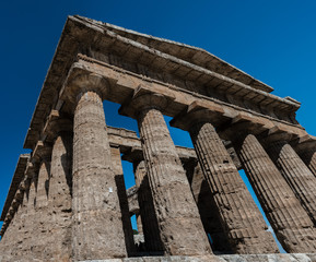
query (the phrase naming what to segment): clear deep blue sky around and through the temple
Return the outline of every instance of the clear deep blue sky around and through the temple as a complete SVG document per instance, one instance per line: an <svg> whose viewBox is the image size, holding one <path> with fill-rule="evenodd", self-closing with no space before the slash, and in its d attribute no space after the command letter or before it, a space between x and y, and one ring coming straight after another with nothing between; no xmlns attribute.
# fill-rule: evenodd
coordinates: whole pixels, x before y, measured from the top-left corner
<svg viewBox="0 0 316 262"><path fill-rule="evenodd" d="M80 14L207 49L302 102L297 119L316 135L316 1L3 1L0 7L0 209L67 15ZM105 103L106 115L116 106ZM118 118L109 124L134 127ZM173 131L176 144L189 138ZM127 170L128 164L125 164ZM132 183L131 179L128 186ZM1 224L0 224L1 226Z"/></svg>

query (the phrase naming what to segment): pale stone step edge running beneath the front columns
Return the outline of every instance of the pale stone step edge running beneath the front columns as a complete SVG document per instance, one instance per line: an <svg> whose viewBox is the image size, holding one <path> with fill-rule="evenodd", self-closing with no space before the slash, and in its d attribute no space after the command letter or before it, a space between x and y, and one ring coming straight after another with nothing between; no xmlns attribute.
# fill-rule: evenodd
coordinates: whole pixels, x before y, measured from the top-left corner
<svg viewBox="0 0 316 262"><path fill-rule="evenodd" d="M316 253L291 253L291 254L225 254L208 257L140 257L110 260L85 260L79 262L314 262Z"/></svg>

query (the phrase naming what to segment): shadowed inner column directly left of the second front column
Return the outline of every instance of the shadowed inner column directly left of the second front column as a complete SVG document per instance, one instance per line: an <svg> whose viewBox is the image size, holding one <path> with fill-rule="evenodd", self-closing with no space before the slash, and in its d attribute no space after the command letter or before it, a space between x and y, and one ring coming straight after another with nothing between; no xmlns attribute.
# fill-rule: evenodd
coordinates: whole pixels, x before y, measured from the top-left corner
<svg viewBox="0 0 316 262"><path fill-rule="evenodd" d="M151 252L162 252L163 245L161 241L159 223L155 215L155 209L153 205L153 198L149 186L149 178L147 175L144 160L133 162L133 172L136 186L139 188L139 217L141 217L145 250ZM139 225L139 223L137 225Z"/></svg>

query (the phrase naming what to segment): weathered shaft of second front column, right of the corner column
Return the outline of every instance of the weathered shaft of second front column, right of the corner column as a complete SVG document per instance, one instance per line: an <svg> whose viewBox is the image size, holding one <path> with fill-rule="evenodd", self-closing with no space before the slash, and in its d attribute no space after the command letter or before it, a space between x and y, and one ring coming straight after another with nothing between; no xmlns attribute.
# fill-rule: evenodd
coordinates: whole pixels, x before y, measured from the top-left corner
<svg viewBox="0 0 316 262"><path fill-rule="evenodd" d="M174 255L210 253L198 209L163 115L154 108L143 109L138 124L165 252Z"/></svg>

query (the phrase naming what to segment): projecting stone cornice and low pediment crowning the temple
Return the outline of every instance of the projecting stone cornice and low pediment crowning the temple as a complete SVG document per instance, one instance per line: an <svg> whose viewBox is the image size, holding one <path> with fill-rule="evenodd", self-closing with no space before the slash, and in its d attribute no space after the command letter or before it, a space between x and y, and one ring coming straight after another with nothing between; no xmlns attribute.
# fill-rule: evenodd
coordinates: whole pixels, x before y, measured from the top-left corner
<svg viewBox="0 0 316 262"><path fill-rule="evenodd" d="M138 33L133 32L129 33L128 35L138 35ZM278 100L276 105L279 110L295 111L299 109L299 104L296 102L293 102L290 98L280 98L268 94L272 91L271 87L262 84L261 82L255 80L254 78L247 75L246 73L239 71L231 64L225 63L221 59L215 58L213 55L210 55L202 49L187 47L183 44L175 44L173 41L160 38L154 38L153 40L152 37L150 37L150 43L143 44L139 43L136 39L128 38L126 33L124 33L124 35L117 35L117 31L115 31L113 26L107 27L104 24L101 25L100 22L92 20L89 20L87 22L87 20L84 17L69 16L31 121L31 127L28 129L24 143L25 148L33 148L34 143L36 143L36 141L38 140L38 138L36 136L38 135L38 133L40 133L42 130L38 130L40 126L36 127L35 122L43 122L43 118L47 117L39 114L39 108L54 107L54 103L56 103L55 98L57 98L58 100L58 97L54 97L54 99L48 99L48 94L59 93L61 88L60 83L63 83L63 80L67 78L67 73L69 71L69 68L71 67L73 58L75 57L78 49L80 49L79 46L81 46L82 48L86 48L85 46L82 46L82 44L85 43L87 38L90 39L90 45L92 45L93 47L98 49L105 49L101 48L103 47L102 45L105 45L108 51L113 51L112 49L115 50L116 48L118 48L119 50L117 51L125 52L125 56L127 58L134 53L139 53L137 55L138 57L145 52L149 58L145 61L148 66L151 66L154 59L156 61L163 61L159 63L159 68L156 68L156 70L166 71L164 64L175 64L176 67L178 67L178 70L176 70L177 72L180 72L182 74L183 72L188 72L187 74L183 75L184 79L186 79L188 75L201 76L196 78L196 80L204 79L204 81L207 82L209 82L210 79L216 79L216 81L226 84L230 83L234 86L234 88L230 88L227 92L234 92L234 90L237 90L238 92L241 91L241 93L258 93L259 96L266 96L267 99ZM93 39L98 40L94 41ZM114 41L119 43L119 45L112 45ZM155 46L152 46L153 43L163 43L164 45L155 44ZM178 53L184 55L187 52L192 52L190 56L188 56L192 57L192 60L185 61L187 59L184 59L182 56L173 56L167 51L168 48L163 48L163 46L165 45L171 45L172 49L179 48L179 50L182 51L179 51ZM128 50L132 51L128 52ZM211 58L209 58L209 56ZM213 71L213 69L200 64L200 62L203 63L203 61L201 61L200 59L203 60L206 58L208 58L207 64L212 64L213 62L215 62L216 67L213 68L222 68L224 72L218 70ZM226 71L227 69L229 72ZM56 79L60 81L56 81ZM256 95L253 95L253 97L256 97Z"/></svg>

